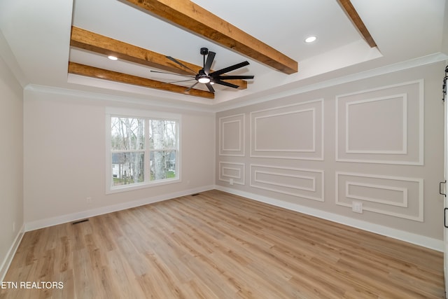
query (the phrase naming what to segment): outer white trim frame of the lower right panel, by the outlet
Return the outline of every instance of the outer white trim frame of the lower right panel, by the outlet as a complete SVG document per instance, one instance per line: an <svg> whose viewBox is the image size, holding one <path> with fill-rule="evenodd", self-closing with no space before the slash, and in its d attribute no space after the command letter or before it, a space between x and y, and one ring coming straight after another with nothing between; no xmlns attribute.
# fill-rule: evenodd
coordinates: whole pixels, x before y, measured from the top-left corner
<svg viewBox="0 0 448 299"><path fill-rule="evenodd" d="M385 211L384 209L375 209L373 207L365 207L363 206L364 211L372 211L378 214L384 214L388 216L405 218L413 221L423 222L423 179L419 178L409 178L402 176L382 176L382 175L374 175L374 174L358 174L354 172L336 172L335 174L335 203L342 207L349 207L351 209L352 204L348 204L345 202L339 202L339 176L358 176L363 178L373 178L373 179L384 179L384 180L393 180L393 181L409 181L413 183L417 183L419 185L419 214L417 216L410 216L407 214L396 213L393 211ZM389 204L390 205L390 204Z"/></svg>

